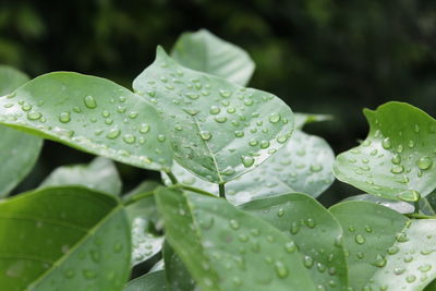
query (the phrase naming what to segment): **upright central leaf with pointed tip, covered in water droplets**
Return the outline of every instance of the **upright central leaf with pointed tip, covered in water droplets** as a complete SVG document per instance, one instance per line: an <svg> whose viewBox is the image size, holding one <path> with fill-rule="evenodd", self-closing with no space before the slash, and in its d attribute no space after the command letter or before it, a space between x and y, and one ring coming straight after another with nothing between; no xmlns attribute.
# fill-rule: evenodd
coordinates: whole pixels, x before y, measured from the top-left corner
<svg viewBox="0 0 436 291"><path fill-rule="evenodd" d="M293 131L293 113L276 96L186 69L161 48L133 87L161 113L174 159L214 183L254 169Z"/></svg>

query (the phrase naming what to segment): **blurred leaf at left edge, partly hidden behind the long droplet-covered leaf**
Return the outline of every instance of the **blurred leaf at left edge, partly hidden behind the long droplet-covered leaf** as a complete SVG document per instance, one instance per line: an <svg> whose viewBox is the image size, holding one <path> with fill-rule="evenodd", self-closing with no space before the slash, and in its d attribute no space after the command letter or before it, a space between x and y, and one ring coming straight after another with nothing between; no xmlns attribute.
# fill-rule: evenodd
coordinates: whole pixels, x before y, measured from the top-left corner
<svg viewBox="0 0 436 291"><path fill-rule="evenodd" d="M0 65L0 96L9 94L28 77L9 66ZM0 197L8 195L32 170L43 146L43 140L0 126Z"/></svg>

